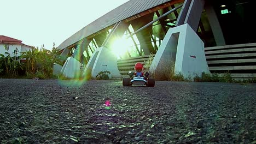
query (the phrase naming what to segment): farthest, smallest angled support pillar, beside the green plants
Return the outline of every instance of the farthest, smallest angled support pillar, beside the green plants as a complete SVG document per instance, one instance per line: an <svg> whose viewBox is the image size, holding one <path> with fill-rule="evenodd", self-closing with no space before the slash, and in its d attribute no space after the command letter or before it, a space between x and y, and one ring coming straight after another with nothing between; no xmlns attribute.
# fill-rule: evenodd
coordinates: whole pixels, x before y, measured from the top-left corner
<svg viewBox="0 0 256 144"><path fill-rule="evenodd" d="M59 57L60 62L63 63L68 58L68 53L71 51L71 49L65 48ZM53 65L53 75L60 75L62 69L62 65L54 63Z"/></svg>

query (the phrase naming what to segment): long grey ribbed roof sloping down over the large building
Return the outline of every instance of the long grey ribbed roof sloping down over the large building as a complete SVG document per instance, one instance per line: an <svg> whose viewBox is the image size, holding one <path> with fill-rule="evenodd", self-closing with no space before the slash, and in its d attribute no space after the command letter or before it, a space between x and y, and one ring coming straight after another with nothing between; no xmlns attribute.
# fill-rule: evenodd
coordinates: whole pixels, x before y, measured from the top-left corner
<svg viewBox="0 0 256 144"><path fill-rule="evenodd" d="M142 13L148 9L152 9L158 5L174 1L174 0L130 0L119 7L109 11L109 13L101 16L89 25L80 29L77 33L63 41L58 48L65 49L69 45L77 43L77 41L88 37L104 28L114 25L115 23L125 20L129 17Z"/></svg>

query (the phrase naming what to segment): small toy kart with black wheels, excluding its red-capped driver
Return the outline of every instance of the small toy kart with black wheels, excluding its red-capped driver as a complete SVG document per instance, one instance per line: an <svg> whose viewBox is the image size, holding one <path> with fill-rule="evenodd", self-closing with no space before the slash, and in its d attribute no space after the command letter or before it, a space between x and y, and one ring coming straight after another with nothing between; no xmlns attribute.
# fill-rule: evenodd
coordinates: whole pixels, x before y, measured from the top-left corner
<svg viewBox="0 0 256 144"><path fill-rule="evenodd" d="M131 71L129 72L130 77L123 77L123 86L144 86L147 87L154 87L155 86L155 79L152 77L148 77L148 73L145 74L145 76L133 76Z"/></svg>

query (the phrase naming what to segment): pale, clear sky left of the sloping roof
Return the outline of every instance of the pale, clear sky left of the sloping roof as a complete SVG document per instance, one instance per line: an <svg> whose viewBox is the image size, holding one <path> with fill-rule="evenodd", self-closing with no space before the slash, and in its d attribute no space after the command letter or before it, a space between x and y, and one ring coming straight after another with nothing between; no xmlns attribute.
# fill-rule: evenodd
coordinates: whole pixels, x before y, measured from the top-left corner
<svg viewBox="0 0 256 144"><path fill-rule="evenodd" d="M0 0L0 35L51 50L129 0Z"/></svg>

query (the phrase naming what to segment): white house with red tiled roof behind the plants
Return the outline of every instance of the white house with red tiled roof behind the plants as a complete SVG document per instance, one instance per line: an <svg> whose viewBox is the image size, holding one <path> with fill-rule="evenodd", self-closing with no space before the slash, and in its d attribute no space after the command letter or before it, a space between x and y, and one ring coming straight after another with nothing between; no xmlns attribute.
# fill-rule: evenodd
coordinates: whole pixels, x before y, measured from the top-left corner
<svg viewBox="0 0 256 144"><path fill-rule="evenodd" d="M5 46L5 47L4 47ZM7 49L7 50L6 50ZM32 46L25 45L21 40L10 38L4 35L0 35L0 53L7 56L5 52L9 52L10 56L15 56L14 51L18 50L17 56L20 56L21 52L26 52L32 49Z"/></svg>

